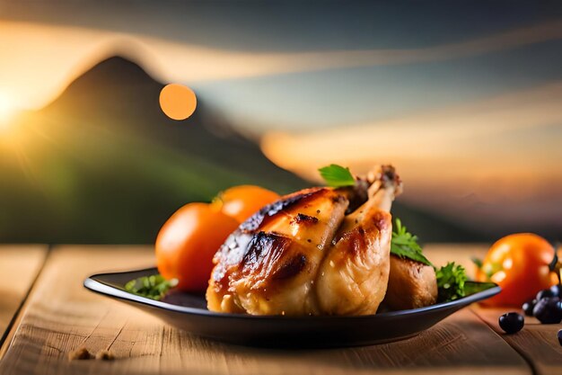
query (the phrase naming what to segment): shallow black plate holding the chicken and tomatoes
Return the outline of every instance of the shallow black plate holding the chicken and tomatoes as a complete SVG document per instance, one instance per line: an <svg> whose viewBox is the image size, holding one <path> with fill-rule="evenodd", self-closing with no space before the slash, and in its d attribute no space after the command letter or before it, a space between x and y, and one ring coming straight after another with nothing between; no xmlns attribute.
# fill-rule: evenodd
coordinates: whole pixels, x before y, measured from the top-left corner
<svg viewBox="0 0 562 375"><path fill-rule="evenodd" d="M123 289L127 281L157 273L155 268L100 273L83 282L89 290L142 308L171 326L195 335L252 346L337 347L381 344L417 335L444 317L500 292L494 283L467 282L467 297L426 308L358 317L283 317L215 313L203 295L171 292L162 301Z"/></svg>

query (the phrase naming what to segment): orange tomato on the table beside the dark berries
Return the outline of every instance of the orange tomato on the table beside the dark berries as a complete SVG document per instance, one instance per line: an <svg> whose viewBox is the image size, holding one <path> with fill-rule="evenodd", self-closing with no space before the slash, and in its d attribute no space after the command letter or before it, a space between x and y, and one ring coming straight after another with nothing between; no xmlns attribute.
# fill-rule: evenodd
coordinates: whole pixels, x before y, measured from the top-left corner
<svg viewBox="0 0 562 375"><path fill-rule="evenodd" d="M537 235L518 233L499 239L487 252L477 280L496 282L502 291L484 304L520 307L555 283L549 269L553 259L554 247Z"/></svg>

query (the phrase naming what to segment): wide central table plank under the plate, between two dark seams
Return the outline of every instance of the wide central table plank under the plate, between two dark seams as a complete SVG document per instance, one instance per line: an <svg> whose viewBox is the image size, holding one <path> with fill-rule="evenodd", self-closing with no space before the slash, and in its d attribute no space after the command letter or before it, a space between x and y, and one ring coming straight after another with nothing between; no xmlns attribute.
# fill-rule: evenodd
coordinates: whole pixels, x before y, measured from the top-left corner
<svg viewBox="0 0 562 375"><path fill-rule="evenodd" d="M195 337L82 287L88 274L153 263L150 247L55 249L0 362L0 374L531 373L522 357L469 309L400 343L271 350ZM107 349L117 358L69 362L67 353L81 346L92 353Z"/></svg>

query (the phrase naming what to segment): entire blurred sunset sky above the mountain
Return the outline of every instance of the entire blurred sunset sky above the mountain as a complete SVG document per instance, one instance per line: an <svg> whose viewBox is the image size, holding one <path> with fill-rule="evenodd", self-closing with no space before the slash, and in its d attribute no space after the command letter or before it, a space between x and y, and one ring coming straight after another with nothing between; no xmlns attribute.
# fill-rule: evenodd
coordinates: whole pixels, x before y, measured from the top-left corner
<svg viewBox="0 0 562 375"><path fill-rule="evenodd" d="M0 1L0 50L4 108L125 54L306 178L393 163L413 206L562 232L559 2Z"/></svg>

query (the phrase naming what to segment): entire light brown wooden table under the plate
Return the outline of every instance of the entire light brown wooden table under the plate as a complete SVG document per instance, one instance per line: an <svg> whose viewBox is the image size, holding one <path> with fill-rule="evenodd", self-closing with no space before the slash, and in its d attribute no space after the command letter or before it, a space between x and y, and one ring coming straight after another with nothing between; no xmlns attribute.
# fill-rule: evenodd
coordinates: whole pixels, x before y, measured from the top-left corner
<svg viewBox="0 0 562 375"><path fill-rule="evenodd" d="M426 246L436 264L468 270L487 246ZM465 308L408 340L330 350L221 344L181 332L84 290L94 272L154 264L151 246L0 246L0 375L18 374L562 374L561 325L526 318L516 335L497 326L502 310ZM36 279L37 278L37 279ZM113 361L69 361L85 347Z"/></svg>

